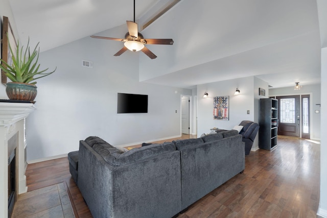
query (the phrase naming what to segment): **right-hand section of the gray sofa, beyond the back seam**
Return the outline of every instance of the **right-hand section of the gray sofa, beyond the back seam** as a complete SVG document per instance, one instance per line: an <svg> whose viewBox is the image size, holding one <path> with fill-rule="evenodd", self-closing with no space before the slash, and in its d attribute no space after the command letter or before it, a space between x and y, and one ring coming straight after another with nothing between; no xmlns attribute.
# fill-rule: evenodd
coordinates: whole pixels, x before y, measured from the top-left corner
<svg viewBox="0 0 327 218"><path fill-rule="evenodd" d="M181 155L182 210L245 168L244 142L237 130L176 141L176 148Z"/></svg>

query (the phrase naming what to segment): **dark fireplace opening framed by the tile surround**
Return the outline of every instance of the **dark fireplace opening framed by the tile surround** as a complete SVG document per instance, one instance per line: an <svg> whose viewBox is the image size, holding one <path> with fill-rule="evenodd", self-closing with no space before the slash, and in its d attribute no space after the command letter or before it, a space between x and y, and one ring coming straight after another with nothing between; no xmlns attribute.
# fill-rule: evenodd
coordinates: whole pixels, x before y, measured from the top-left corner
<svg viewBox="0 0 327 218"><path fill-rule="evenodd" d="M14 209L16 193L16 149L8 158L8 217Z"/></svg>

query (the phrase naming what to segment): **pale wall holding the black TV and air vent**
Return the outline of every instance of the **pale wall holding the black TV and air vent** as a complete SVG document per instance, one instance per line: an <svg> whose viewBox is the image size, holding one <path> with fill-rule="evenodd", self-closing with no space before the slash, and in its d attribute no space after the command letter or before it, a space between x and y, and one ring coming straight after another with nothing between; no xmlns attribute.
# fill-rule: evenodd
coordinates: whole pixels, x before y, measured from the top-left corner
<svg viewBox="0 0 327 218"><path fill-rule="evenodd" d="M97 35L123 35L125 29ZM122 46L86 37L40 54L41 68L57 66L57 71L36 84L37 110L26 121L28 160L78 150L79 140L90 135L113 146L180 135L180 94L192 95L192 90L140 83L138 55L144 54L114 57ZM82 67L82 60L94 67ZM117 114L118 92L148 94L148 113Z"/></svg>

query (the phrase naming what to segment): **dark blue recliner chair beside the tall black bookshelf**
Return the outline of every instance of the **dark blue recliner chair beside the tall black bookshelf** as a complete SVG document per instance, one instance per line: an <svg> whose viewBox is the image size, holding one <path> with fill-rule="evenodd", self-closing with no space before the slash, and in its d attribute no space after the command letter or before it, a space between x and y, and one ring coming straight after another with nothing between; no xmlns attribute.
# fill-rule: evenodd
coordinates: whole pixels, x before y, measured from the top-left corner
<svg viewBox="0 0 327 218"><path fill-rule="evenodd" d="M259 124L249 120L243 120L239 126L243 126L240 134L243 135L242 141L245 142L245 155L249 155L254 138L259 131Z"/></svg>

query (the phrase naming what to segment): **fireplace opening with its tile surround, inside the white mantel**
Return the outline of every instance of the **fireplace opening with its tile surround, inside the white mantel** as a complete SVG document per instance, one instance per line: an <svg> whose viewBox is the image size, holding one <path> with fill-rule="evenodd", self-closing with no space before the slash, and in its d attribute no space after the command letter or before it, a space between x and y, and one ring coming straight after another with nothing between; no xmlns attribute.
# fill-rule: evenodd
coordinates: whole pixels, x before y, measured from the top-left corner
<svg viewBox="0 0 327 218"><path fill-rule="evenodd" d="M16 148L18 147L18 132L8 140L8 217L16 202Z"/></svg>

